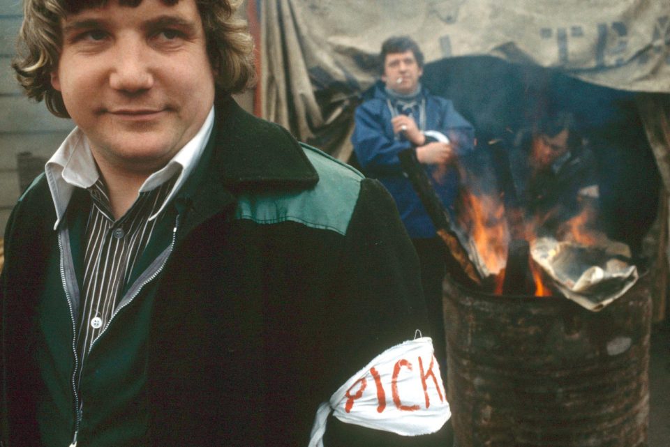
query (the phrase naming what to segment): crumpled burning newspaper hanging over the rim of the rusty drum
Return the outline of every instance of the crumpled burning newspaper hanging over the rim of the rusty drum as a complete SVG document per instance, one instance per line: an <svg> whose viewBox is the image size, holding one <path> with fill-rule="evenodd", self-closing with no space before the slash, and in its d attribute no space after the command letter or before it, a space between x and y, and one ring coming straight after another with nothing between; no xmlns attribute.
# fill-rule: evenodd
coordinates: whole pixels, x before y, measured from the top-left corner
<svg viewBox="0 0 670 447"><path fill-rule="evenodd" d="M601 240L587 246L543 237L531 241L530 255L566 298L594 312L625 294L638 278L624 243Z"/></svg>

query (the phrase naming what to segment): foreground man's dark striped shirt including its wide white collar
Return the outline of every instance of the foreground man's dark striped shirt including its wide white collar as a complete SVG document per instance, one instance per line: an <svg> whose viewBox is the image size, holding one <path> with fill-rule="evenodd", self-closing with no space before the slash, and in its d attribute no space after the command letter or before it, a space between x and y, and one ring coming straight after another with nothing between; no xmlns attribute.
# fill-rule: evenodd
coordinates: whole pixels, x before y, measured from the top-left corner
<svg viewBox="0 0 670 447"><path fill-rule="evenodd" d="M144 181L131 209L116 222L93 152L80 128L73 129L47 161L45 175L57 216L54 230L66 223L64 216L77 188L89 191L93 202L84 236L84 279L77 306L80 312L75 315L78 374L91 346L119 310L117 306L125 302L121 291L128 285L165 206L198 165L212 128L214 106L193 139Z"/></svg>

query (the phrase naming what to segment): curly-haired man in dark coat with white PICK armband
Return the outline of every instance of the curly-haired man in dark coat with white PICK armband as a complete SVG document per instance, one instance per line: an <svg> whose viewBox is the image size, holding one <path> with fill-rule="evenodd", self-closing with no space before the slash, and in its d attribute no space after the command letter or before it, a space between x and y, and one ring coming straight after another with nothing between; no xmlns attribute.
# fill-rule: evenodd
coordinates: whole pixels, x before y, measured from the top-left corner
<svg viewBox="0 0 670 447"><path fill-rule="evenodd" d="M441 442L393 200L234 103L236 8L25 0L17 79L76 128L6 229L3 446Z"/></svg>

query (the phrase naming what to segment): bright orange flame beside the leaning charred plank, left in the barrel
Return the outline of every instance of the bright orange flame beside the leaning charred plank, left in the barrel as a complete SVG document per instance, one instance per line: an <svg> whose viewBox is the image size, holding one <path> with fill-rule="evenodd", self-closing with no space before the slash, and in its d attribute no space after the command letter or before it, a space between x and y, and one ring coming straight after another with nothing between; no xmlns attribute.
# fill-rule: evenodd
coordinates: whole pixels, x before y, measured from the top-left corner
<svg viewBox="0 0 670 447"><path fill-rule="evenodd" d="M482 263L493 275L504 278L507 262L509 231L505 220L505 206L498 197L467 192L463 204L469 211L469 234ZM500 280L502 289L502 280Z"/></svg>

